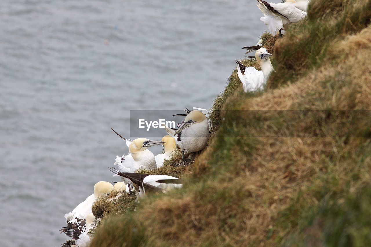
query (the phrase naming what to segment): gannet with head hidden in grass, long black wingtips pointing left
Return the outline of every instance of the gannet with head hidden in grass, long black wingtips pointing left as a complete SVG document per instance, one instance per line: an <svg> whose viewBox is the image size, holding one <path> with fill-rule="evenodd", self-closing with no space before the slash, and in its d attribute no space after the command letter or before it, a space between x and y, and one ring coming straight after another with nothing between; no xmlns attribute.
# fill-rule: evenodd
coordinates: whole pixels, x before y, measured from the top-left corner
<svg viewBox="0 0 371 247"><path fill-rule="evenodd" d="M145 196L146 190L162 191L166 193L169 190L172 190L174 188L181 188L183 186L183 184L181 184L181 180L168 175L119 172L115 169L111 169L111 171L117 175L120 175L121 177L124 177L125 179L131 180L133 184L138 185L138 198L143 198Z"/></svg>

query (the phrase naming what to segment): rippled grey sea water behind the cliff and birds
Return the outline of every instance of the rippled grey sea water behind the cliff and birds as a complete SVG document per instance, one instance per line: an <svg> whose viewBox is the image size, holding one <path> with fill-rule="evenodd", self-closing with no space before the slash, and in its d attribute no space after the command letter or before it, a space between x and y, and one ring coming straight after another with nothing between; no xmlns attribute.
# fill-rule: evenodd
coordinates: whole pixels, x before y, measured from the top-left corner
<svg viewBox="0 0 371 247"><path fill-rule="evenodd" d="M111 127L135 138L129 110L210 108L261 15L253 0L2 2L1 246L64 243L64 214L118 181Z"/></svg>

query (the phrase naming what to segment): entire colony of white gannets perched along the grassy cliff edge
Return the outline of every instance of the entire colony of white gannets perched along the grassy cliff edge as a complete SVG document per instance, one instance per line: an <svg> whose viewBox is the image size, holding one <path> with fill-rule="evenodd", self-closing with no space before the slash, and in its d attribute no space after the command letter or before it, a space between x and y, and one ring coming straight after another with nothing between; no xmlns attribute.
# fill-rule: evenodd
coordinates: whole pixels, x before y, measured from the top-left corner
<svg viewBox="0 0 371 247"><path fill-rule="evenodd" d="M283 0L281 3L268 3L263 0L256 0L257 7L262 11L263 16L260 20L267 26L267 31L279 37L285 34L291 23L297 23L306 16L306 8L309 0ZM270 57L273 55L267 52L259 40L255 46L245 46L247 53L255 52L255 58L261 70L255 67L246 67L241 60L236 60L237 75L241 80L244 92L253 92L264 89L265 83L270 74L274 72ZM193 108L193 111L185 110L187 114L177 114L184 116L184 121L178 123L178 129L165 128L167 135L160 140L150 140L147 138L137 138L130 140L118 134L128 147L128 154L117 156L114 167L109 168L114 175L121 178L121 182L112 185L110 182L99 181L94 185L93 194L89 195L85 201L77 205L70 213L65 214L66 227L60 231L72 237L71 242L79 247L89 245L90 236L94 228L99 225L101 219L95 218L92 214L93 203L101 197L105 197L112 192L121 191L129 196L136 197L136 201L142 200L146 193L158 191L166 193L169 190L182 187L182 181L168 175L150 175L138 173L138 170L156 170L164 165L164 161L172 157L177 146L182 152L179 166L188 166L193 163L184 153L197 153L207 146L210 135L210 123L207 115L210 109ZM174 115L175 116L175 115ZM165 134L165 133L164 133ZM162 145L161 154L154 155L150 148L155 145ZM195 157L195 155L193 155ZM138 191L135 190L138 188ZM121 194L122 195L122 194Z"/></svg>

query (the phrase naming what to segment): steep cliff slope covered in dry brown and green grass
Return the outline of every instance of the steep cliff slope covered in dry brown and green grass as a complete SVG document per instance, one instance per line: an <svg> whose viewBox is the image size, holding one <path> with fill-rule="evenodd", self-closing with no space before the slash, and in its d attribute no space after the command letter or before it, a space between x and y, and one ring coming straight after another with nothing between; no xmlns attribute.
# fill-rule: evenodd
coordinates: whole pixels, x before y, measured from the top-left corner
<svg viewBox="0 0 371 247"><path fill-rule="evenodd" d="M242 93L232 73L184 187L109 217L91 246L370 243L369 10L312 0L308 20L276 43L266 92Z"/></svg>

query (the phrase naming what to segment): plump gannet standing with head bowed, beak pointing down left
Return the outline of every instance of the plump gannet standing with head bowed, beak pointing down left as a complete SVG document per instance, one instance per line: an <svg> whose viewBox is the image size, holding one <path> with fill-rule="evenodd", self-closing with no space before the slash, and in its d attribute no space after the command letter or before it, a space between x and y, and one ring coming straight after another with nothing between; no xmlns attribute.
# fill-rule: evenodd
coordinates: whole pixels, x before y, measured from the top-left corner
<svg viewBox="0 0 371 247"><path fill-rule="evenodd" d="M207 145L207 140L210 135L209 123L205 114L197 110L188 113L176 131L169 128L165 129L169 135L174 137L177 145L182 151L182 161L180 165L185 165L184 151L197 152L202 150ZM178 136L178 134L180 134L180 136Z"/></svg>

